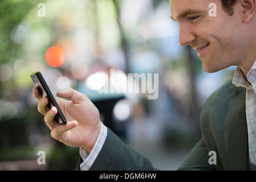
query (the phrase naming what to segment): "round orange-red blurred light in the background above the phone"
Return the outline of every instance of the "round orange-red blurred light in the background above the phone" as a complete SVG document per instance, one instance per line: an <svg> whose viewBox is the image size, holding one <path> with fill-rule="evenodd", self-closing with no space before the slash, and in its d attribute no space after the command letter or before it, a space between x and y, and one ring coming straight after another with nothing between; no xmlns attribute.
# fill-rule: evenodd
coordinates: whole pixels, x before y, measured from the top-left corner
<svg viewBox="0 0 256 182"><path fill-rule="evenodd" d="M62 48L52 46L45 53L46 63L51 67L60 67L65 60L65 53Z"/></svg>

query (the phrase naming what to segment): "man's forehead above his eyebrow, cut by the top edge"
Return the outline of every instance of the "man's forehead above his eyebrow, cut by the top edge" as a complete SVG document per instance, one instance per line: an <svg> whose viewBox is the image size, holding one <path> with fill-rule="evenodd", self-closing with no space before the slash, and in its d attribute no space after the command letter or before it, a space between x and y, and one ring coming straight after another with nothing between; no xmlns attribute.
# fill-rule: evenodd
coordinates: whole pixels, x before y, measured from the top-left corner
<svg viewBox="0 0 256 182"><path fill-rule="evenodd" d="M209 4L216 0L169 0L170 13L175 18L187 10L209 10Z"/></svg>

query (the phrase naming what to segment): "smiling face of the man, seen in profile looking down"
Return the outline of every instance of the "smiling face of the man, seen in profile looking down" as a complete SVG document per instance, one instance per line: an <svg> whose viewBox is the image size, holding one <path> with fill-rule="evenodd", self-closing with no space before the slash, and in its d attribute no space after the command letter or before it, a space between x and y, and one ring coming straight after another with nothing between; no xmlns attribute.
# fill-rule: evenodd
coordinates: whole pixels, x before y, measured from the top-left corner
<svg viewBox="0 0 256 182"><path fill-rule="evenodd" d="M206 72L238 65L242 57L243 35L237 16L222 10L221 1L169 0L172 18L180 25L181 46L192 46ZM209 4L217 5L216 16L210 16Z"/></svg>

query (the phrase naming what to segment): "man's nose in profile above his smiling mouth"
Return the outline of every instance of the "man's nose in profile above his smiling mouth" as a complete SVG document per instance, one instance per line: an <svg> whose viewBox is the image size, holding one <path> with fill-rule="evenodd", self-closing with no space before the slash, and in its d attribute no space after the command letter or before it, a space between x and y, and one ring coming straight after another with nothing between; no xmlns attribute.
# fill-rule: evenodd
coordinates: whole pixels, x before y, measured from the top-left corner
<svg viewBox="0 0 256 182"><path fill-rule="evenodd" d="M194 40L196 40L196 35L192 33L191 28L186 25L180 24L180 37L178 39L178 43L180 46L188 46Z"/></svg>

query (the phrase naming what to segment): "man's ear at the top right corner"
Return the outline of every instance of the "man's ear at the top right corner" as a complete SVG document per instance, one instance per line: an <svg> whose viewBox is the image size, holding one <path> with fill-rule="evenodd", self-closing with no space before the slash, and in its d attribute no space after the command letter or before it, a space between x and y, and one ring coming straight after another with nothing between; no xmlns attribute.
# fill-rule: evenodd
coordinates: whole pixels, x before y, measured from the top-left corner
<svg viewBox="0 0 256 182"><path fill-rule="evenodd" d="M256 0L240 0L241 2L241 15L243 23L248 23L255 15Z"/></svg>

